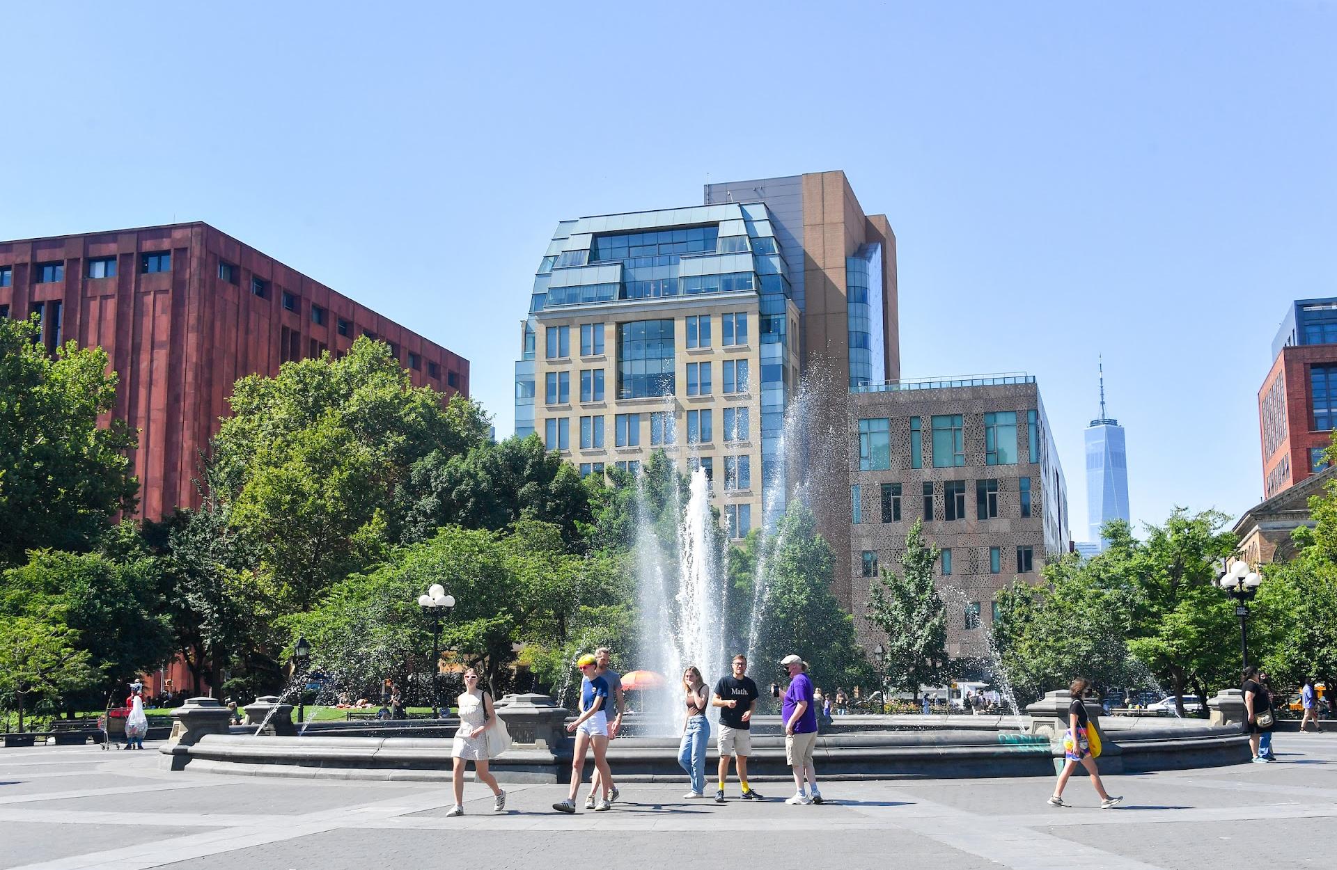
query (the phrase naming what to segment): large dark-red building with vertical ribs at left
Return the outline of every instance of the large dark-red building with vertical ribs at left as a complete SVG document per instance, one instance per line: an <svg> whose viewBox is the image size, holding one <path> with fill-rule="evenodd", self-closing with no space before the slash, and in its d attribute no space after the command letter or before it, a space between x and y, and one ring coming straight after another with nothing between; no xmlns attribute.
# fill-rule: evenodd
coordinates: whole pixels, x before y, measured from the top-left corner
<svg viewBox="0 0 1337 870"><path fill-rule="evenodd" d="M206 223L0 242L0 315L33 313L48 347L100 345L119 373L142 519L198 504L199 456L247 374L372 335L414 385L469 394L468 359Z"/></svg>

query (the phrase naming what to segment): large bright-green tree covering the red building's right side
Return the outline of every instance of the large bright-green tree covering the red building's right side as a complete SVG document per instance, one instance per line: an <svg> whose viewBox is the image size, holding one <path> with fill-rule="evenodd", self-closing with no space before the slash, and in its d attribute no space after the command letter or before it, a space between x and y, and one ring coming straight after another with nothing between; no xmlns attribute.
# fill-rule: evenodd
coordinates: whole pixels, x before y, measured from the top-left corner
<svg viewBox="0 0 1337 870"><path fill-rule="evenodd" d="M213 494L273 576L285 609L385 557L401 539L416 462L483 442L473 402L413 388L384 342L237 382L214 440Z"/></svg>

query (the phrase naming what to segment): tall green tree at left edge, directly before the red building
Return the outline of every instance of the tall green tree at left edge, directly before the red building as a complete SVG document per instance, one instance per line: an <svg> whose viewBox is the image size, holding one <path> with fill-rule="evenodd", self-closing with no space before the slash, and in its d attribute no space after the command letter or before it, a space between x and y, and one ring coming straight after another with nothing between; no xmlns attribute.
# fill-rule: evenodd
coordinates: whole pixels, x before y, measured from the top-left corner
<svg viewBox="0 0 1337 870"><path fill-rule="evenodd" d="M29 549L87 551L110 517L135 506L139 484L115 373L100 347L47 354L36 318L0 318L0 565Z"/></svg>

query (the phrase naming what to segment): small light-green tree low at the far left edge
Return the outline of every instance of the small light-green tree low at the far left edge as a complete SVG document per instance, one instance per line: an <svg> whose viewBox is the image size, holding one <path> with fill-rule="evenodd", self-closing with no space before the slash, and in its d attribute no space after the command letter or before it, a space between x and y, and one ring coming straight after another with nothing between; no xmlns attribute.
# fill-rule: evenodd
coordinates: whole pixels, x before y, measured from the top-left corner
<svg viewBox="0 0 1337 870"><path fill-rule="evenodd" d="M33 702L59 704L102 679L90 659L79 647L79 632L68 625L35 616L0 620L0 696L13 700L19 731Z"/></svg>

